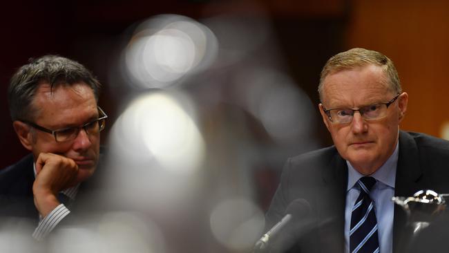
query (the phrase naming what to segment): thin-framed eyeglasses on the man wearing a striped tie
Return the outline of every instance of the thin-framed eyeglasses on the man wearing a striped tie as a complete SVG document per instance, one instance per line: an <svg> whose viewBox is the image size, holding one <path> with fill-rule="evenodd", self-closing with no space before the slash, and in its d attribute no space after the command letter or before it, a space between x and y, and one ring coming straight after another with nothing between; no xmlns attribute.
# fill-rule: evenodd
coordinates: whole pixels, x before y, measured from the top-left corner
<svg viewBox="0 0 449 253"><path fill-rule="evenodd" d="M379 120L387 115L388 106L396 101L399 95L401 94L396 95L396 97L389 102L371 104L368 106L363 106L359 109L325 109L323 107L323 111L326 113L327 118L335 124L346 124L352 122L352 118L354 118L354 113L356 111L358 111L365 120Z"/></svg>

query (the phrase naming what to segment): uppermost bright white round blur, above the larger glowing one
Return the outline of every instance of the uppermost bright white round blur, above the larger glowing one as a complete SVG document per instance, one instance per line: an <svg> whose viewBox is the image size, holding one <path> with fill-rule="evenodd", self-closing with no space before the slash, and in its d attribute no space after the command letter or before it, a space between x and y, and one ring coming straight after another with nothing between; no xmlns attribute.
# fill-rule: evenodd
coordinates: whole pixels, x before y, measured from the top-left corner
<svg viewBox="0 0 449 253"><path fill-rule="evenodd" d="M140 88L163 88L207 68L218 41L203 24L179 15L142 22L124 49L125 79Z"/></svg>

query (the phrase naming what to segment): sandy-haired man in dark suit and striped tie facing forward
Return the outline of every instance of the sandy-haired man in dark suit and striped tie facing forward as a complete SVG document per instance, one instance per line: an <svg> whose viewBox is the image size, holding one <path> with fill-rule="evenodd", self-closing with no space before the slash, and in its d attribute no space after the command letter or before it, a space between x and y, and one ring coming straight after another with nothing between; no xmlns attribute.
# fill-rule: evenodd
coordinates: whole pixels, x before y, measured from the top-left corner
<svg viewBox="0 0 449 253"><path fill-rule="evenodd" d="M307 226L283 236L292 239L280 240L280 247L290 252L404 252L407 217L391 198L420 189L449 192L449 142L399 131L408 94L392 61L376 51L353 48L330 58L318 92L334 146L287 161L266 227L302 198L309 212L297 219Z"/></svg>

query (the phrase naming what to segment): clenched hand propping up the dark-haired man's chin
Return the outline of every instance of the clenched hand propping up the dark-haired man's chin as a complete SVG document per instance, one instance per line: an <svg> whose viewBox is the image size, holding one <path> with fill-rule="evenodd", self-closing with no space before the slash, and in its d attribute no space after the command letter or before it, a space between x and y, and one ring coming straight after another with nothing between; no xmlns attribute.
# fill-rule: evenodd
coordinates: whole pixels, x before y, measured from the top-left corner
<svg viewBox="0 0 449 253"><path fill-rule="evenodd" d="M70 158L54 153L40 153L36 160L36 180L32 185L35 206L42 217L60 205L59 191L73 184L78 165Z"/></svg>

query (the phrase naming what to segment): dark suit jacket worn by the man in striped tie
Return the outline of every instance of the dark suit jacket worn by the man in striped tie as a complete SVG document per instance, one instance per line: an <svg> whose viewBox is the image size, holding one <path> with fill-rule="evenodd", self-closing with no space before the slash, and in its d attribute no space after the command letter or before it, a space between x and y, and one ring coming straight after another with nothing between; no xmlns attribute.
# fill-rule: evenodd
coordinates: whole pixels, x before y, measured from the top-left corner
<svg viewBox="0 0 449 253"><path fill-rule="evenodd" d="M420 189L449 193L448 167L448 141L400 131L394 195L412 196ZM309 226L294 238L289 252L344 252L346 187L347 164L334 146L290 158L266 214L266 227L280 221L289 203L303 198L312 209L303 217ZM405 212L395 205L394 252L407 247L406 221Z"/></svg>

